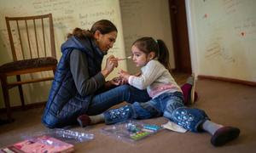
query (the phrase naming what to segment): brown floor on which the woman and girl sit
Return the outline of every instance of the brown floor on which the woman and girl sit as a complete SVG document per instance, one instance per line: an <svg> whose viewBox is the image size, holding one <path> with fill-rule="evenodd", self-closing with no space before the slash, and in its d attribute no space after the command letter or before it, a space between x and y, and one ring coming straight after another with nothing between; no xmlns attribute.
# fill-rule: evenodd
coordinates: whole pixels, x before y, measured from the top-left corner
<svg viewBox="0 0 256 153"><path fill-rule="evenodd" d="M183 84L189 75L174 74L178 84ZM175 133L162 130L148 139L137 144L127 144L118 138L109 137L102 133L104 123L89 127L72 127L70 130L93 133L94 139L75 144L75 152L176 152L176 153L241 153L255 152L256 146L256 88L246 85L212 81L208 79L197 80L195 86L199 99L192 107L207 112L213 122L223 125L239 127L241 135L238 139L224 145L213 147L210 143L211 135L208 133ZM44 107L27 111L15 111L15 122L0 126L0 147L13 144L34 133L45 132L48 128L41 123ZM0 116L2 118L4 114ZM158 117L142 122L161 125L166 118Z"/></svg>

